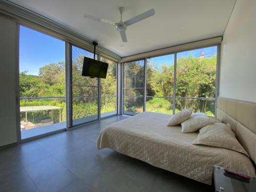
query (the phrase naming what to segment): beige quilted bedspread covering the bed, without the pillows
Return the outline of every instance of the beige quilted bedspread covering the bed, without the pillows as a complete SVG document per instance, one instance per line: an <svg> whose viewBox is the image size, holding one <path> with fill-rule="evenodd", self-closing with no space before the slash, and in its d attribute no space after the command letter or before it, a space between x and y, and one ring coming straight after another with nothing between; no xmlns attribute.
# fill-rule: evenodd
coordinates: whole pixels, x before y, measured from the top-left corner
<svg viewBox="0 0 256 192"><path fill-rule="evenodd" d="M212 167L219 165L255 176L248 157L225 148L194 145L198 132L181 133L181 126L166 126L170 115L144 112L107 126L97 147L111 148L153 166L211 184Z"/></svg>

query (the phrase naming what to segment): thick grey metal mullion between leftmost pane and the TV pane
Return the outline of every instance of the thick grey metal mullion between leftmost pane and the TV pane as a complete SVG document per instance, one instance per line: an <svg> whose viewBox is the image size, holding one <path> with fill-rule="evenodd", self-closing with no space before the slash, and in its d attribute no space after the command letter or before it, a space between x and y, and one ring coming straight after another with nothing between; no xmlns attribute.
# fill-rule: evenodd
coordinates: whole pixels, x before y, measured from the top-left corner
<svg viewBox="0 0 256 192"><path fill-rule="evenodd" d="M65 42L66 54L66 130L73 126L72 104L72 45Z"/></svg>

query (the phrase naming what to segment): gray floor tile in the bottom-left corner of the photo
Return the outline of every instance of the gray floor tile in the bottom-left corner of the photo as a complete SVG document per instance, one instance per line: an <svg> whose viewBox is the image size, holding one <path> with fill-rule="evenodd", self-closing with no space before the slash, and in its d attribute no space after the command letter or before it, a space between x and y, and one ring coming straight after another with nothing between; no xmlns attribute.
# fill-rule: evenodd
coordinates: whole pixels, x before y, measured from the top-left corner
<svg viewBox="0 0 256 192"><path fill-rule="evenodd" d="M0 191L1 192L34 192L38 191L25 169L19 169L7 176L0 177Z"/></svg>

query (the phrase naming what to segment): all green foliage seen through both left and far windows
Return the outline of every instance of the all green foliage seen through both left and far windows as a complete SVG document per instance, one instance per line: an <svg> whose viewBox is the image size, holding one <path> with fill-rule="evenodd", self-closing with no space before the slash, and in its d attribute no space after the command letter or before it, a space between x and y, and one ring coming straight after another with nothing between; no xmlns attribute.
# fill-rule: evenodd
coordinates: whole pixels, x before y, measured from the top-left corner
<svg viewBox="0 0 256 192"><path fill-rule="evenodd" d="M101 57L101 61L109 63L106 79L101 79L101 113L116 111L117 65L115 62ZM195 58L182 57L177 61L176 97L215 98L217 57ZM97 78L81 76L83 56L77 56L72 62L73 75L73 118L92 116L97 114ZM143 112L144 63L133 61L124 65L124 111ZM19 74L20 97L57 97L65 96L65 63L50 63L39 69L38 76L27 75L27 71ZM169 97L173 95L174 66L154 65L150 60L146 71L147 96ZM89 87L88 87L89 86ZM146 98L146 111L172 114L172 98ZM194 112L204 112L214 116L215 101L210 99L176 99L176 112L192 109ZM61 121L66 121L65 99L23 99L20 106L59 106ZM53 114L52 114L53 113ZM28 121L38 123L49 119L59 121L59 111L29 112ZM25 120L25 113L20 117Z"/></svg>

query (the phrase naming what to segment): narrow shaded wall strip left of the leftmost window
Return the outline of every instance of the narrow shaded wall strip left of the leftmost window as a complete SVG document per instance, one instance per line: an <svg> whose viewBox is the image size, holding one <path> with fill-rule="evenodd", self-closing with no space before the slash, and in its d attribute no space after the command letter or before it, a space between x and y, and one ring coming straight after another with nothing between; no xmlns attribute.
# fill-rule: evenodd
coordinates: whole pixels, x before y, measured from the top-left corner
<svg viewBox="0 0 256 192"><path fill-rule="evenodd" d="M0 146L17 142L18 25L0 16Z"/></svg>

